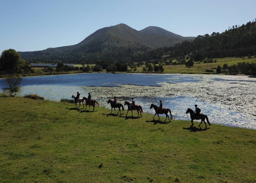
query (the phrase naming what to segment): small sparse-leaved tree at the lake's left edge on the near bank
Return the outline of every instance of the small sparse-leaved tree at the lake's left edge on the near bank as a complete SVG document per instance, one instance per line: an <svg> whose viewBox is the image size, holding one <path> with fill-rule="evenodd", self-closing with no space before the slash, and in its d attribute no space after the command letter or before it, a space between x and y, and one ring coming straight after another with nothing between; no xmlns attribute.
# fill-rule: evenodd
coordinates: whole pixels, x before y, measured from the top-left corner
<svg viewBox="0 0 256 183"><path fill-rule="evenodd" d="M21 82L21 78L15 76L14 74L7 74L5 76L5 81L7 83L7 87L5 90L9 92L9 96L13 96L14 93L19 91L19 87L17 86Z"/></svg>

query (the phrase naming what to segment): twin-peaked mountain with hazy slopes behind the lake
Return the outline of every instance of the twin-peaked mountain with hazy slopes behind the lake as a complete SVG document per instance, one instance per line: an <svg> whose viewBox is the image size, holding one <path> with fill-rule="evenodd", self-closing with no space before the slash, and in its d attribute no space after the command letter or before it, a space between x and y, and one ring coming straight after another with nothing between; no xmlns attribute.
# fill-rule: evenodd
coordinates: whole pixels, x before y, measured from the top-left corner
<svg viewBox="0 0 256 183"><path fill-rule="evenodd" d="M194 38L182 37L154 26L137 31L121 23L99 29L76 45L19 53L21 58L28 62L53 60L69 63L80 63L84 60L89 60L90 63L98 60L129 62L133 56L145 51L174 46Z"/></svg>

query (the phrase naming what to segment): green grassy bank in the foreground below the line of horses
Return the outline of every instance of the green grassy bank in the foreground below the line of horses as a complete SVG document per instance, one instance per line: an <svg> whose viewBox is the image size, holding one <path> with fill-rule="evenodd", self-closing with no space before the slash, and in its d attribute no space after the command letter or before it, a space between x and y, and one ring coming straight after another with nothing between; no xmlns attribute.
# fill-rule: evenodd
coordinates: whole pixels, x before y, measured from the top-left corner
<svg viewBox="0 0 256 183"><path fill-rule="evenodd" d="M256 182L256 130L18 97L0 108L0 182Z"/></svg>

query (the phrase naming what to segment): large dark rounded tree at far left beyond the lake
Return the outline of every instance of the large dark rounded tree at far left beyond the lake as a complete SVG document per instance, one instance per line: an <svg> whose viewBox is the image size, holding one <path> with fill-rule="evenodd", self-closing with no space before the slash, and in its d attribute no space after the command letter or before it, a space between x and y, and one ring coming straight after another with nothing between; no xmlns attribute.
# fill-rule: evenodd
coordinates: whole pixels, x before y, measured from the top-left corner
<svg viewBox="0 0 256 183"><path fill-rule="evenodd" d="M5 73L16 73L20 60L20 55L15 49L4 50L0 57L0 70Z"/></svg>

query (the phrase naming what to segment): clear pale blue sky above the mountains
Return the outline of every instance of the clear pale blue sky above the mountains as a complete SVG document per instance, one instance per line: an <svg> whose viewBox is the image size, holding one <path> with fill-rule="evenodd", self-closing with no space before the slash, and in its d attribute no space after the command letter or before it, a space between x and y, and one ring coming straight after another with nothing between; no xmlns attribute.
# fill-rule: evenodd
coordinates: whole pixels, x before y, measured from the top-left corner
<svg viewBox="0 0 256 183"><path fill-rule="evenodd" d="M256 0L0 0L0 54L75 45L103 27L222 33L256 18Z"/></svg>

